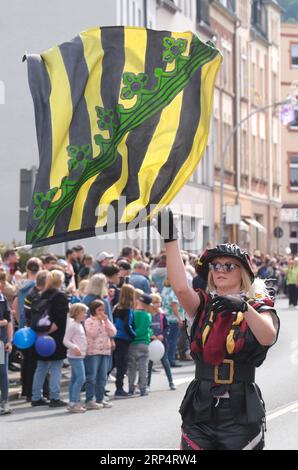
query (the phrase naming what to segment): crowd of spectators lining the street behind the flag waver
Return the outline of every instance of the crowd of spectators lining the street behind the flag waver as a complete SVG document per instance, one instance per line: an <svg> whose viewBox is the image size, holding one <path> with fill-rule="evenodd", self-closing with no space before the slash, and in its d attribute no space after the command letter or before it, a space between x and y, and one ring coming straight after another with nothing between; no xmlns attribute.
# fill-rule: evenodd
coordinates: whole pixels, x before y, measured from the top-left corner
<svg viewBox="0 0 298 470"><path fill-rule="evenodd" d="M182 252L182 258L189 284L206 288L196 274L197 256ZM288 296L289 307L297 307L298 257L255 250L251 260L255 275ZM33 328L33 306L39 300L50 306L46 334L56 344L50 357L40 356L34 346L19 351L12 344L17 329ZM52 253L31 257L21 272L18 251L6 250L0 258L1 414L11 412L8 370L17 370L17 363L22 397L33 407L67 406L60 389L68 364L70 412L110 408L106 382L113 369L115 399L146 396L154 370L149 344L155 339L165 346L161 363L169 389L175 390L172 367L191 360L185 324L164 252L152 256L125 246L118 256L106 251L93 256L77 245L63 258Z"/></svg>

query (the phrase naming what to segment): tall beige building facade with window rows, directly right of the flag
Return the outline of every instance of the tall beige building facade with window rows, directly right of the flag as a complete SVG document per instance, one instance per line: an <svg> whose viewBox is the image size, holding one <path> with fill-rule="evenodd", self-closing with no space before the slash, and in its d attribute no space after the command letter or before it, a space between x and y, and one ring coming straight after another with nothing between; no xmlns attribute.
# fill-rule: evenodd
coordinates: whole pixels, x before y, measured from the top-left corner
<svg viewBox="0 0 298 470"><path fill-rule="evenodd" d="M197 5L201 29L209 30L224 57L214 96L216 238L237 241L250 251L273 252L281 207L275 113L280 7L261 0L198 0Z"/></svg>

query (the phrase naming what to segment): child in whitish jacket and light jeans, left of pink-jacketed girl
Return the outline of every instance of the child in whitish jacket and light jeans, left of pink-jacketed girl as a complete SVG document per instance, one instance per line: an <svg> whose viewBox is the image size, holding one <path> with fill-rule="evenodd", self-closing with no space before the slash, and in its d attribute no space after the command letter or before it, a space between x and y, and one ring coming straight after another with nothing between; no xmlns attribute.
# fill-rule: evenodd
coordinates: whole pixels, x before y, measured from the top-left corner
<svg viewBox="0 0 298 470"><path fill-rule="evenodd" d="M80 403L80 392L85 383L84 358L87 352L87 338L82 322L86 319L88 307L85 304L76 303L70 306L71 318L67 325L63 339L67 347L67 357L71 366L71 379L69 383L69 407L71 413L84 413L86 408Z"/></svg>

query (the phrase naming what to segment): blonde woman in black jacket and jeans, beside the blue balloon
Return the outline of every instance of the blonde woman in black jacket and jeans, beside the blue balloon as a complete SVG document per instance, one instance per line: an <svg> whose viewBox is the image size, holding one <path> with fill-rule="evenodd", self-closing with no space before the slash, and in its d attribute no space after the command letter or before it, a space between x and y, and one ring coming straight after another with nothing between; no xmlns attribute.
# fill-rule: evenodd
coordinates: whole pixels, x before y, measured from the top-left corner
<svg viewBox="0 0 298 470"><path fill-rule="evenodd" d="M32 385L32 406L43 406L47 402L42 399L42 387L48 371L50 374L50 403L51 408L66 406L66 403L60 400L60 381L63 360L66 358L66 347L63 344L63 338L66 330L66 321L68 314L68 298L62 292L64 282L64 273L54 269L47 274L45 290L41 294L41 300L47 300L49 304L49 331L56 342L55 352L48 357L38 355L37 368L34 373Z"/></svg>

